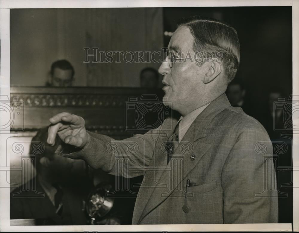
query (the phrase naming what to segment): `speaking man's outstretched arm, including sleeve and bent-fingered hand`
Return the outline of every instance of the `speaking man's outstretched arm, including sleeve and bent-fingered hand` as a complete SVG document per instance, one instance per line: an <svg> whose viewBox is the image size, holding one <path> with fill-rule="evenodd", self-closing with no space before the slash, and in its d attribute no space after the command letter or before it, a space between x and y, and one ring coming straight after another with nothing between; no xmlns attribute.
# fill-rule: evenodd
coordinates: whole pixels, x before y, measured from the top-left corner
<svg viewBox="0 0 299 233"><path fill-rule="evenodd" d="M87 132L84 119L69 113L61 113L50 119L48 143L56 134L65 143L56 153L73 159L83 159L92 168L100 168L112 175L126 178L143 175L154 153L159 130L137 134L124 140ZM162 126L160 126L162 127Z"/></svg>

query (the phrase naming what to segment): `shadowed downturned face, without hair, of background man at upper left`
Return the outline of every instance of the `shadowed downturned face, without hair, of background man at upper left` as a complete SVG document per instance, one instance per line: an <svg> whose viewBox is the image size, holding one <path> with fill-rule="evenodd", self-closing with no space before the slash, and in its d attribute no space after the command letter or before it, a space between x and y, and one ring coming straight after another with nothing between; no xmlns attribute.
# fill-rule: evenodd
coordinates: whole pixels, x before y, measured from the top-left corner
<svg viewBox="0 0 299 233"><path fill-rule="evenodd" d="M72 70L54 68L53 75L51 77L51 86L53 87L70 87L72 84Z"/></svg>

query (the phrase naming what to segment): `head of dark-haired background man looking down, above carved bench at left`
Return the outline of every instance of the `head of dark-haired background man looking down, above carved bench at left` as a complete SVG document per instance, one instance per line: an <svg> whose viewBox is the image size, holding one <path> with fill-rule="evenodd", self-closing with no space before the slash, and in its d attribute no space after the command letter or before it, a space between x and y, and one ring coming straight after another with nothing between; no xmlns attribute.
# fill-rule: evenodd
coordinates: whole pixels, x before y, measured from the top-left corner
<svg viewBox="0 0 299 233"><path fill-rule="evenodd" d="M51 65L46 86L71 87L74 81L74 67L67 60L57 60Z"/></svg>

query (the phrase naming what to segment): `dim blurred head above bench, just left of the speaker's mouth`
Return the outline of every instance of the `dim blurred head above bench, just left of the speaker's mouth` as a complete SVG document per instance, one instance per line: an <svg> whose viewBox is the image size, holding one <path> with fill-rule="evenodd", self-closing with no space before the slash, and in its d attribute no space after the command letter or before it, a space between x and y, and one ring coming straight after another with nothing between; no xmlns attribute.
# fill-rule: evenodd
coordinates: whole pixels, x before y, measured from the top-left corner
<svg viewBox="0 0 299 233"><path fill-rule="evenodd" d="M146 67L140 72L140 86L147 88L158 88L159 73L152 67Z"/></svg>

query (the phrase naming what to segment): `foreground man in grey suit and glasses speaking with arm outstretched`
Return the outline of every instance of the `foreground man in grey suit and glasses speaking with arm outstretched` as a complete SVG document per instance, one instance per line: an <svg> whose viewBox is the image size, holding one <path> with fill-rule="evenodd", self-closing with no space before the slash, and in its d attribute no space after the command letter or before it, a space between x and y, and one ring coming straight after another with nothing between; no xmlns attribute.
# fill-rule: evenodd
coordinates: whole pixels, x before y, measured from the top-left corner
<svg viewBox="0 0 299 233"><path fill-rule="evenodd" d="M87 132L82 117L60 113L50 119L48 143L58 133L68 144L58 147L60 155L111 174L145 174L132 224L276 223L277 191L264 187L264 174L275 174L271 166L264 170L271 141L225 95L239 58L234 28L214 19L188 19L171 37L158 70L179 122L167 118L155 130L118 141ZM274 185L275 175L271 178Z"/></svg>

